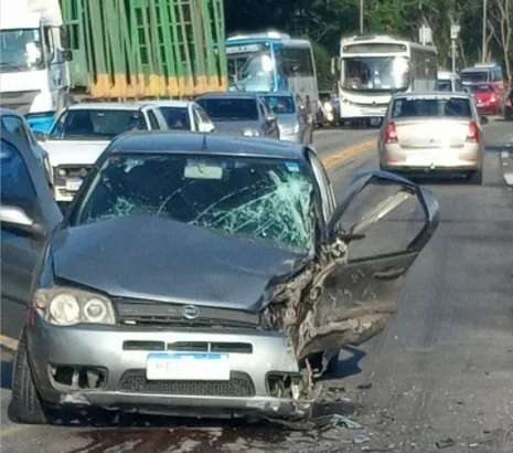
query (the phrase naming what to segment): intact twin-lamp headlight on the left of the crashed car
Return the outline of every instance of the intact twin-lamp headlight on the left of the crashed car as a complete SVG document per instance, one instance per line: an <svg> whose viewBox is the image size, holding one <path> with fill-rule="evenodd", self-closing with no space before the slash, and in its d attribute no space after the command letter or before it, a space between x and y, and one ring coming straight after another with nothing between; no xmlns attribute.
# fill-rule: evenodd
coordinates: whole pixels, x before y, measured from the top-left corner
<svg viewBox="0 0 513 453"><path fill-rule="evenodd" d="M55 326L116 323L113 303L107 297L82 289L38 289L33 304L39 315Z"/></svg>

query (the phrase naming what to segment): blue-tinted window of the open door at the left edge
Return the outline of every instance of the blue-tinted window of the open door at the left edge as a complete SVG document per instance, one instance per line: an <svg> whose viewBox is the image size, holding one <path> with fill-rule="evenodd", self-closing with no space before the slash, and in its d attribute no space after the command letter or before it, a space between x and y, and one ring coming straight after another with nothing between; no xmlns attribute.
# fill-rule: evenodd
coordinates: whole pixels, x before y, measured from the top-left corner
<svg viewBox="0 0 513 453"><path fill-rule="evenodd" d="M38 196L21 152L10 143L1 140L1 203L22 208L36 218Z"/></svg>

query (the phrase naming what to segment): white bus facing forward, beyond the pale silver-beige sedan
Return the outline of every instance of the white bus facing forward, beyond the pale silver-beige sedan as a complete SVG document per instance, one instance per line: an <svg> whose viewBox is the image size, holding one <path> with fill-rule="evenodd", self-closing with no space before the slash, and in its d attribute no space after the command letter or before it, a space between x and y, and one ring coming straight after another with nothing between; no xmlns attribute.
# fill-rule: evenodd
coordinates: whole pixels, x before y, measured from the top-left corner
<svg viewBox="0 0 513 453"><path fill-rule="evenodd" d="M341 122L383 118L394 93L435 91L437 49L388 35L343 38L339 74Z"/></svg>

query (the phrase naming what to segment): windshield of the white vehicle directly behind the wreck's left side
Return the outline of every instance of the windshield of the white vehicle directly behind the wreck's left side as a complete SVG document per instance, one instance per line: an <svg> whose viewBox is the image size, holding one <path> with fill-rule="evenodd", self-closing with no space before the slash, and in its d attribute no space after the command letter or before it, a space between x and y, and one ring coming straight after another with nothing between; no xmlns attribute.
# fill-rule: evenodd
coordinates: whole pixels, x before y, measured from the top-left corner
<svg viewBox="0 0 513 453"><path fill-rule="evenodd" d="M139 110L81 108L65 110L49 134L51 140L111 140L127 130L147 130Z"/></svg>

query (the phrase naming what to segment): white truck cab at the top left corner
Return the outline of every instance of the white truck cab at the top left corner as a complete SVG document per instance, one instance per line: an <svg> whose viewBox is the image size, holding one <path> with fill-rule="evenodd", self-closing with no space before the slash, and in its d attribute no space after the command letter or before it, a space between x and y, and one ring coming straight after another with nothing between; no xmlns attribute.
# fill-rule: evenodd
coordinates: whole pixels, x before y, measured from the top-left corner
<svg viewBox="0 0 513 453"><path fill-rule="evenodd" d="M71 52L58 0L0 0L0 106L46 133L68 103Z"/></svg>

